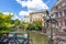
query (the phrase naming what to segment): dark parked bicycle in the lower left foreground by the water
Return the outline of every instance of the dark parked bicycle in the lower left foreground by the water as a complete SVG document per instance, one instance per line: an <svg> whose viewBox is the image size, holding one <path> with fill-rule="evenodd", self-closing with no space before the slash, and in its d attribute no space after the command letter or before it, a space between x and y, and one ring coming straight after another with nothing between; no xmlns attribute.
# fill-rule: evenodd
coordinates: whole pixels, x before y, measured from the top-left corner
<svg viewBox="0 0 66 44"><path fill-rule="evenodd" d="M32 44L28 34L10 32L7 37L1 40L2 44Z"/></svg>

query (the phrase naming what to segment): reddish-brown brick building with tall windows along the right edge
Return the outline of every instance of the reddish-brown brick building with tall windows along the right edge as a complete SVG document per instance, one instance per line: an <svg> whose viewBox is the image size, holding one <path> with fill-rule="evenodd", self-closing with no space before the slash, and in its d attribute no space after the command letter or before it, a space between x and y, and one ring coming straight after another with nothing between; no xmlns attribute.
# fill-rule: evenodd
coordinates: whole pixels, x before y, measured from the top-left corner
<svg viewBox="0 0 66 44"><path fill-rule="evenodd" d="M55 19L58 21L59 31L66 31L66 0L58 0L52 8L51 13L55 14Z"/></svg>

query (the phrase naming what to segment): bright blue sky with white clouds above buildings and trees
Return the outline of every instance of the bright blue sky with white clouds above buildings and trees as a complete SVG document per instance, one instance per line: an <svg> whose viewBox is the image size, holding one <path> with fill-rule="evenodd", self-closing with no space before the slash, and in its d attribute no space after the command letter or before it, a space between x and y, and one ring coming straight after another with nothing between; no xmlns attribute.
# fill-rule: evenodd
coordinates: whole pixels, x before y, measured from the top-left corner
<svg viewBox="0 0 66 44"><path fill-rule="evenodd" d="M0 0L0 12L14 13L13 19L23 19L30 12L51 10L56 0Z"/></svg>

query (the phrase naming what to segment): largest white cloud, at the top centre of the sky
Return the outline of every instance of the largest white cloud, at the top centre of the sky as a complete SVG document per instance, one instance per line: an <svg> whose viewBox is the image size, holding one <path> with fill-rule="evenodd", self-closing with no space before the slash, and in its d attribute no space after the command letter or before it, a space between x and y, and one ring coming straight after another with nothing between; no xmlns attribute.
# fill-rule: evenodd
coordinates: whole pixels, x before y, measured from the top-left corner
<svg viewBox="0 0 66 44"><path fill-rule="evenodd" d="M18 3L20 3L22 7L28 7L31 11L40 11L48 9L48 7L43 2L43 0L28 0L28 1L21 1L16 0Z"/></svg>

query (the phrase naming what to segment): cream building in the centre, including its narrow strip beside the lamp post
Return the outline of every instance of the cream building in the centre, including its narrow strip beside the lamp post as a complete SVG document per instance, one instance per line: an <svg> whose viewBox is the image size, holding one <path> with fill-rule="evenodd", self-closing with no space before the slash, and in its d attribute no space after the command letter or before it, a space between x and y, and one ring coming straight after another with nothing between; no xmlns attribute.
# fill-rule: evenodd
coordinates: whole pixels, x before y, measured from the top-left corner
<svg viewBox="0 0 66 44"><path fill-rule="evenodd" d="M45 29L43 29L44 28L44 15L45 15L45 11L30 13L31 23L34 23L37 21L42 22L42 32L45 32Z"/></svg>

